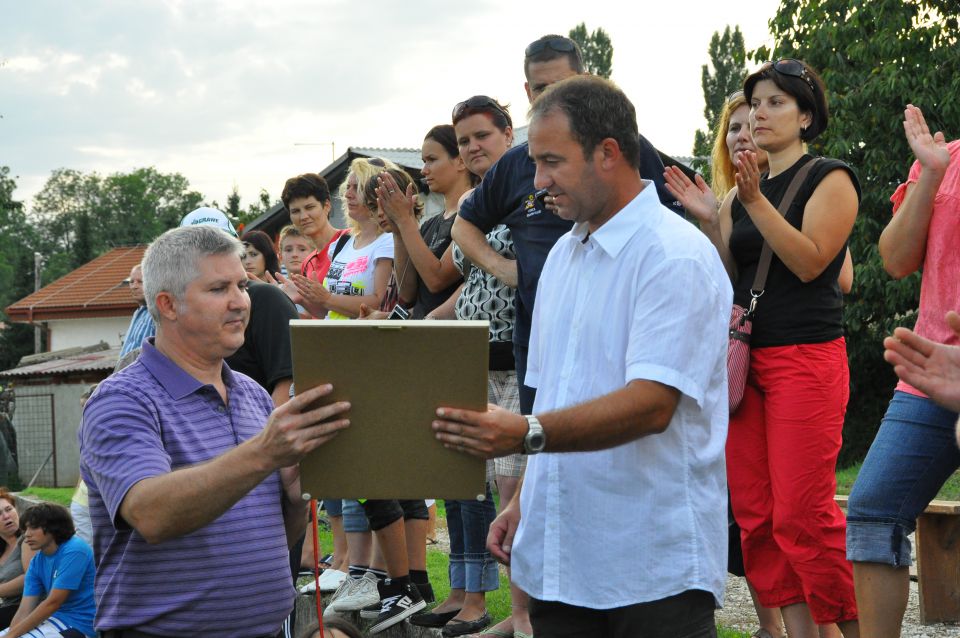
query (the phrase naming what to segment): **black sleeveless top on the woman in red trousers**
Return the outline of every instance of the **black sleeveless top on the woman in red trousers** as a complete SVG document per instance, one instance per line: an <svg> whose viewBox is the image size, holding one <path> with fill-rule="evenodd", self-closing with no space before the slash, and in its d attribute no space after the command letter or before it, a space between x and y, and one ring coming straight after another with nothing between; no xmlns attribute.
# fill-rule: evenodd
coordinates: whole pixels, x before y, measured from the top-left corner
<svg viewBox="0 0 960 638"><path fill-rule="evenodd" d="M774 207L780 204L793 176L810 158L810 155L804 155L796 164L776 177L761 177L760 192ZM857 199L860 199L860 182L853 170L840 160L821 158L801 184L790 210L787 211L786 219L791 226L800 229L807 200L823 178L838 169L845 170L850 175L857 190ZM737 199L733 200L731 214L733 231L730 235L730 253L737 264L733 302L748 307L750 286L757 274L763 237L747 215L743 204ZM845 255L846 243L819 277L803 283L774 253L763 296L757 301L750 345L762 348L823 343L843 336L843 295L837 284L837 277L840 275Z"/></svg>

